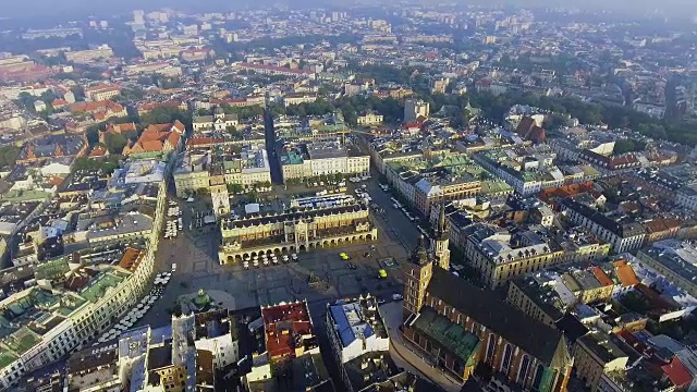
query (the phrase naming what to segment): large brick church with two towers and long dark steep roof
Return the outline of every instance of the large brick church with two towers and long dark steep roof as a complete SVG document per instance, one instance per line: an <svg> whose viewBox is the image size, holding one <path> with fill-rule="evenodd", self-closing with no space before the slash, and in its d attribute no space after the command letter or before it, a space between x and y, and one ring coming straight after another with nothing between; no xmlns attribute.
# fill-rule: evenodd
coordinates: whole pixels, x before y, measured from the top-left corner
<svg viewBox="0 0 697 392"><path fill-rule="evenodd" d="M484 367L524 390L565 391L573 357L561 332L451 273L449 245L441 205L430 238L403 265L409 348L463 383Z"/></svg>

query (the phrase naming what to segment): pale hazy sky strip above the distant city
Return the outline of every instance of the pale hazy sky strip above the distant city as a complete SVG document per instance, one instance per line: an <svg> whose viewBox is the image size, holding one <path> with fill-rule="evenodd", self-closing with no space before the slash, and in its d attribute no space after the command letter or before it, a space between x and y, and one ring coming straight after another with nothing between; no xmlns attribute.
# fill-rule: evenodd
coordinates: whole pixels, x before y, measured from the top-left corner
<svg viewBox="0 0 697 392"><path fill-rule="evenodd" d="M415 0L416 1L416 0ZM444 0L443 2L448 2ZM461 0L467 3L502 3L519 7L578 7L594 9L626 10L632 13L644 13L648 10L660 9L671 15L697 15L697 0ZM355 4L351 0L321 0L322 3ZM425 0L426 3L440 2L438 0ZM61 15L61 19L80 17L89 13L98 16L125 13L134 9L156 9L171 7L175 9L205 9L228 10L231 8L245 8L246 4L259 7L271 3L292 3L310 5L317 0L0 0L2 4L0 16L8 17L36 17ZM376 0L376 3L380 3ZM421 2L424 3L424 2Z"/></svg>

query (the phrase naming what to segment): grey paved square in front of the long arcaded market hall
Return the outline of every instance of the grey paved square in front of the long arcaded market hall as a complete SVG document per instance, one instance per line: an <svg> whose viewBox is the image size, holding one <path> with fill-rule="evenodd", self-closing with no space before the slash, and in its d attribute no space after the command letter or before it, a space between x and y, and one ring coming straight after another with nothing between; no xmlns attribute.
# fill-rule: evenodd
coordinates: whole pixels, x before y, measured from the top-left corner
<svg viewBox="0 0 697 392"><path fill-rule="evenodd" d="M371 194L377 192L381 191L372 191ZM387 194L381 196L389 200ZM142 324L166 323L176 299L182 295L194 294L199 289L206 290L220 306L230 309L293 299L326 303L332 298L352 297L365 293L387 298L393 293L402 293L399 270L411 244L404 240L404 234L394 230L393 225L395 222L398 224L408 222L404 217L375 216L374 221L378 225L376 242L313 249L299 253L298 262L281 261L278 265L260 265L258 268L250 267L245 270L242 264L220 266L217 255L220 240L215 225L188 230L188 222L195 219L192 216L192 208L195 213L196 206L182 205L186 230L175 240L163 238L160 242L156 261L157 270L170 270L171 265L175 262L176 271L172 274L163 296L140 320ZM405 221L400 222L396 218ZM408 224L407 229L415 233L413 224ZM411 235L415 236L414 233ZM351 262L341 259L339 253L342 252L351 256ZM366 257L366 253L370 255ZM351 264L355 268L350 268ZM378 278L380 269L387 270L387 279ZM310 275L314 277L311 284Z"/></svg>

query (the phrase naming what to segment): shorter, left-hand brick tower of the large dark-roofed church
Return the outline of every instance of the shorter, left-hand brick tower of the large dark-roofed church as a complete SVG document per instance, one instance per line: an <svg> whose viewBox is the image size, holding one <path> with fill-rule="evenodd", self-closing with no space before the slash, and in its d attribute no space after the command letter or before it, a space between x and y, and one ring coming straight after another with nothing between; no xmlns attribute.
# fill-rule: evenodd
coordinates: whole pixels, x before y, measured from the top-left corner
<svg viewBox="0 0 697 392"><path fill-rule="evenodd" d="M433 272L433 260L426 248L426 238L421 235L418 245L404 264L404 319L418 313L424 305L426 287Z"/></svg>

